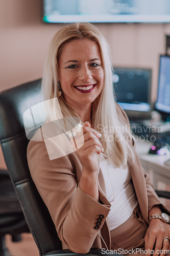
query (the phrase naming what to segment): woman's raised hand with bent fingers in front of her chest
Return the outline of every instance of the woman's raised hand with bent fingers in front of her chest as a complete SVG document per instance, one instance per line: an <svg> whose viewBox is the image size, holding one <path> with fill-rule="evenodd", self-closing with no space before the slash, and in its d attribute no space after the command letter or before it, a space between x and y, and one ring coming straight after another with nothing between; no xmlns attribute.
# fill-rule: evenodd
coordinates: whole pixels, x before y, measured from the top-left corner
<svg viewBox="0 0 170 256"><path fill-rule="evenodd" d="M76 150L75 153L78 156L83 169L86 169L89 173L95 173L99 168L96 153L100 155L101 152L103 152L102 143L99 141L101 135L90 127L89 122L85 122L82 129L83 135L82 133L77 133L76 135L76 144L78 147L82 144L82 136L84 136L84 144ZM71 144L74 145L72 142L73 139L71 139Z"/></svg>

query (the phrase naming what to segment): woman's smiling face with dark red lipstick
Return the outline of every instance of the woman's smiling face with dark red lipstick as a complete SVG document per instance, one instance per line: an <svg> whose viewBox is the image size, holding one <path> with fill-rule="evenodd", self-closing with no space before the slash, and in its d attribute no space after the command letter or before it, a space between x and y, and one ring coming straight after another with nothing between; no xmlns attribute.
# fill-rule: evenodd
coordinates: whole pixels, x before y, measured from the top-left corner
<svg viewBox="0 0 170 256"><path fill-rule="evenodd" d="M79 110L90 105L101 93L104 70L99 46L89 39L75 39L65 44L58 60L62 94Z"/></svg>

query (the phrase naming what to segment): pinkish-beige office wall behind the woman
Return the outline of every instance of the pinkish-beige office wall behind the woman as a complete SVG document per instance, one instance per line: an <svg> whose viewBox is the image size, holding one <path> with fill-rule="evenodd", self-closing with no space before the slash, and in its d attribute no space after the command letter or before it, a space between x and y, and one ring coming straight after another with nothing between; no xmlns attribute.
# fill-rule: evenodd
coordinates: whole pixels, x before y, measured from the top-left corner
<svg viewBox="0 0 170 256"><path fill-rule="evenodd" d="M41 0L1 0L0 91L40 78L47 47L59 24L43 24ZM170 24L98 24L109 41L113 65L153 70L156 100L159 55L165 53ZM0 168L5 166L0 153Z"/></svg>

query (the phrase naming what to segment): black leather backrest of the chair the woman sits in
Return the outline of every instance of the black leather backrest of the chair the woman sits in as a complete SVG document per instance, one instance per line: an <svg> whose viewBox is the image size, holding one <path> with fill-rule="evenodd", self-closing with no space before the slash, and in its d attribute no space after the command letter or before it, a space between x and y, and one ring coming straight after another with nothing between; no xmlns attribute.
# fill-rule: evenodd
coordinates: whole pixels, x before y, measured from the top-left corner
<svg viewBox="0 0 170 256"><path fill-rule="evenodd" d="M0 93L0 140L10 177L40 255L62 249L50 213L30 176L23 113L41 102L41 80Z"/></svg>

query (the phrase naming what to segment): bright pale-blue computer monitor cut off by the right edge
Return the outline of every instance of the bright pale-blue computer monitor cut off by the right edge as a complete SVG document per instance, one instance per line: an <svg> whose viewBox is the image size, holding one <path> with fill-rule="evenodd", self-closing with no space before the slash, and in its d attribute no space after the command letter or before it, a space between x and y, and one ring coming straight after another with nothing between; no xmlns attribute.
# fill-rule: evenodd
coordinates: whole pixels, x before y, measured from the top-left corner
<svg viewBox="0 0 170 256"><path fill-rule="evenodd" d="M170 115L170 56L167 55L160 55L155 109L162 113L163 119Z"/></svg>

